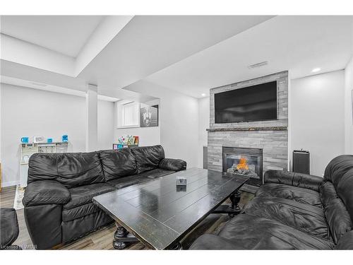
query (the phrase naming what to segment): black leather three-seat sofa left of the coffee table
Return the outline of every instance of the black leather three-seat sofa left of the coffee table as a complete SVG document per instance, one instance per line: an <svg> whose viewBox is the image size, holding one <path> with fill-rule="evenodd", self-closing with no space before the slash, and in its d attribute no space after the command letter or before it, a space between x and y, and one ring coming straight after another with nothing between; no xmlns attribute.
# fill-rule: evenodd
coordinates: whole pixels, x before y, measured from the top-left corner
<svg viewBox="0 0 353 265"><path fill-rule="evenodd" d="M23 197L32 242L49 249L112 223L92 197L185 169L184 160L164 158L162 146L36 153Z"/></svg>

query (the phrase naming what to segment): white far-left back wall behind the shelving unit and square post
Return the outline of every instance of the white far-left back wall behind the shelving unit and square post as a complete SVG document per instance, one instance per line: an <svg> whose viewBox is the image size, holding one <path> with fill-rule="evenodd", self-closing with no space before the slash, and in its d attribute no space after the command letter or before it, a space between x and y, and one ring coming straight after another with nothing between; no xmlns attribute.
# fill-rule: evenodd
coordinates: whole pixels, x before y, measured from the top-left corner
<svg viewBox="0 0 353 265"><path fill-rule="evenodd" d="M112 148L114 103L98 101L99 149ZM70 152L85 151L85 98L1 83L1 163L4 186L19 179L20 138L68 134Z"/></svg>

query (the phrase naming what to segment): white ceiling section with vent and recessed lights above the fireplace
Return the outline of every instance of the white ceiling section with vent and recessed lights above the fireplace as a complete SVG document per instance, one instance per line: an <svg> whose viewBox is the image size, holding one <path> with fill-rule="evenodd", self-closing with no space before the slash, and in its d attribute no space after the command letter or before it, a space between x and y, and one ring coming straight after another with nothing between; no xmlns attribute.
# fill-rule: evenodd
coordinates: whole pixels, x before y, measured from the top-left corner
<svg viewBox="0 0 353 265"><path fill-rule="evenodd" d="M277 16L145 79L201 98L210 88L279 71L300 78L316 67L345 69L352 49L352 16ZM248 68L261 61L268 65Z"/></svg>

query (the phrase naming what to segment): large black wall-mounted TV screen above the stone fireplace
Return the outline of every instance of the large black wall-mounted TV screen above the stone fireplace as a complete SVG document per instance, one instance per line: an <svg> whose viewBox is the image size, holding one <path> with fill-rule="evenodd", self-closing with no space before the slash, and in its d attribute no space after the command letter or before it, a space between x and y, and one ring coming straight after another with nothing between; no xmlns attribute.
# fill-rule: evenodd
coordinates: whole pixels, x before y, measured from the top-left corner
<svg viewBox="0 0 353 265"><path fill-rule="evenodd" d="M277 119L277 81L215 94L215 123Z"/></svg>

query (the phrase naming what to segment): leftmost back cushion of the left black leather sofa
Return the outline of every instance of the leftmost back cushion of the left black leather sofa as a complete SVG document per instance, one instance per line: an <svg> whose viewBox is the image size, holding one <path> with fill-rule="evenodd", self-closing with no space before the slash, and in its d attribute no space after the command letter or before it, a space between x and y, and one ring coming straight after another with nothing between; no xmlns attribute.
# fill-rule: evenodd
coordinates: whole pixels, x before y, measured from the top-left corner
<svg viewBox="0 0 353 265"><path fill-rule="evenodd" d="M29 161L28 183L44 179L54 179L67 188L105 181L97 152L32 155Z"/></svg>

